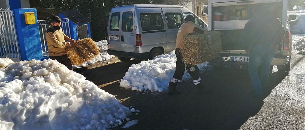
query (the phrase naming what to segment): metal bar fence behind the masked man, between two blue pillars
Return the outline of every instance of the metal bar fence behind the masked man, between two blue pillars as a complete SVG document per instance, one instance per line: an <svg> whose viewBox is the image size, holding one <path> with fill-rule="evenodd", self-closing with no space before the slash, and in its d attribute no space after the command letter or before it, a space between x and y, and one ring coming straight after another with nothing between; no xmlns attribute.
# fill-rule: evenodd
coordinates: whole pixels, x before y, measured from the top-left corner
<svg viewBox="0 0 305 130"><path fill-rule="evenodd" d="M69 19L61 19L61 21L62 22L60 27L63 29L63 33L71 37ZM43 56L48 56L48 45L45 39L45 33L50 26L51 26L51 20L38 20L39 35L40 35L41 49Z"/></svg>

